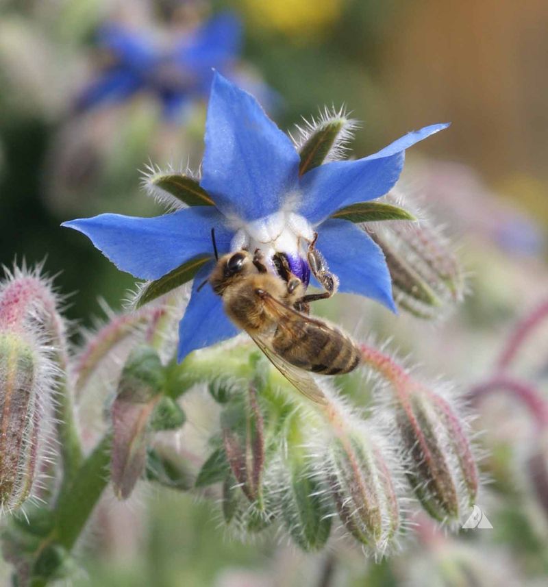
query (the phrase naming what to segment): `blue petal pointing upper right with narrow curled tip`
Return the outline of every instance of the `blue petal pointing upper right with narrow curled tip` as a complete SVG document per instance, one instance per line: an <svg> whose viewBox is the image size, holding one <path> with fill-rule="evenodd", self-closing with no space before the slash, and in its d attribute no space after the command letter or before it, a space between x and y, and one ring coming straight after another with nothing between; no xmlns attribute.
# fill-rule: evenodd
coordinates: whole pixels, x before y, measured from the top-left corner
<svg viewBox="0 0 548 587"><path fill-rule="evenodd" d="M301 178L299 213L319 223L343 206L385 195L399 179L404 150L447 126L432 125L410 132L358 161L334 161L310 170Z"/></svg>

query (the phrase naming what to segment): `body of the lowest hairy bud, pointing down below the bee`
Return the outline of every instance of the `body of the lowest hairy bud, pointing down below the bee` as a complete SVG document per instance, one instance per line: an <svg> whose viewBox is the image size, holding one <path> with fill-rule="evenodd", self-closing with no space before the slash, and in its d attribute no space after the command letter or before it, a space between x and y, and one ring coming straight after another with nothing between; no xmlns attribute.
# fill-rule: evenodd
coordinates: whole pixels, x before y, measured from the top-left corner
<svg viewBox="0 0 548 587"><path fill-rule="evenodd" d="M361 430L335 438L329 469L340 521L356 540L384 553L397 538L400 514L395 485L379 446Z"/></svg>

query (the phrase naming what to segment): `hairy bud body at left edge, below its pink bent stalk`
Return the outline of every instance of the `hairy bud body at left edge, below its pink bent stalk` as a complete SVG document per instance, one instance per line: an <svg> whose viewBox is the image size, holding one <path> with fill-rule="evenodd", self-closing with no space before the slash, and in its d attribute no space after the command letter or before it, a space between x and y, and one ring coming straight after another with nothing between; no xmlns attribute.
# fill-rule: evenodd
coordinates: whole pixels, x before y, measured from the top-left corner
<svg viewBox="0 0 548 587"><path fill-rule="evenodd" d="M44 391L38 351L23 336L0 332L0 510L17 509L31 495Z"/></svg>

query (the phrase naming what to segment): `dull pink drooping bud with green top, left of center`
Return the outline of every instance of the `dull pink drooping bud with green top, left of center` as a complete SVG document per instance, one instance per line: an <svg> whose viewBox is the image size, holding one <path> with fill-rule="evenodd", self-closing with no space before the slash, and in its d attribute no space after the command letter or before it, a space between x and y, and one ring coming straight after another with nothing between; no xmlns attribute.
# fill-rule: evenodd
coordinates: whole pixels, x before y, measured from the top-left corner
<svg viewBox="0 0 548 587"><path fill-rule="evenodd" d="M151 347L129 355L112 405L112 484L119 499L131 495L145 471L155 408L162 398L162 363Z"/></svg>

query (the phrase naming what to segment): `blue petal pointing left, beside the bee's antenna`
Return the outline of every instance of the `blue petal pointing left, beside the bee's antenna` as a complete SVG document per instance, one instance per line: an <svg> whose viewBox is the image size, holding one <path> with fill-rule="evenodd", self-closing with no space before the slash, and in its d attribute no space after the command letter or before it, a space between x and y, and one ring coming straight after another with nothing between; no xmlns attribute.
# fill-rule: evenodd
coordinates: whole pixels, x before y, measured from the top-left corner
<svg viewBox="0 0 548 587"><path fill-rule="evenodd" d="M212 253L212 228L219 252L229 251L232 232L223 221L214 208L195 206L155 218L100 214L62 226L88 236L122 271L140 279L159 279L196 255Z"/></svg>

